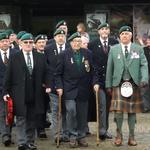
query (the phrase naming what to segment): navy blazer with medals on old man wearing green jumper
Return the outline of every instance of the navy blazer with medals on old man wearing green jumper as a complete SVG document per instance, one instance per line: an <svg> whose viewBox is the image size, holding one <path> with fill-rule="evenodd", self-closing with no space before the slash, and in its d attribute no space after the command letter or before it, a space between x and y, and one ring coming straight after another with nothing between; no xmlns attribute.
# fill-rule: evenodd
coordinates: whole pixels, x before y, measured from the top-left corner
<svg viewBox="0 0 150 150"><path fill-rule="evenodd" d="M92 57L86 49L80 49L82 56L81 69L74 61L73 50L67 49L59 55L55 73L56 88L63 89L64 99L87 101L90 96L92 82ZM90 71L85 69L85 61L88 61Z"/></svg>

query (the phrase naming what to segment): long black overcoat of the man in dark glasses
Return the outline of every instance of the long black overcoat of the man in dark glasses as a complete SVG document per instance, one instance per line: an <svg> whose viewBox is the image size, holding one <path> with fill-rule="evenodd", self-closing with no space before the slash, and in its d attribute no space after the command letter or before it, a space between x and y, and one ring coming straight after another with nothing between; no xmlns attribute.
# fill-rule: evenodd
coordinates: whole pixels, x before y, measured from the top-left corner
<svg viewBox="0 0 150 150"><path fill-rule="evenodd" d="M44 55L33 51L34 68L32 76L25 63L23 52L20 51L11 57L6 70L4 80L3 94L10 94L14 102L14 111L18 116L26 116L28 104L27 99L27 80L32 78L33 81L33 99L32 109L35 114L44 113L44 94L43 84L48 86L48 70L45 63Z"/></svg>

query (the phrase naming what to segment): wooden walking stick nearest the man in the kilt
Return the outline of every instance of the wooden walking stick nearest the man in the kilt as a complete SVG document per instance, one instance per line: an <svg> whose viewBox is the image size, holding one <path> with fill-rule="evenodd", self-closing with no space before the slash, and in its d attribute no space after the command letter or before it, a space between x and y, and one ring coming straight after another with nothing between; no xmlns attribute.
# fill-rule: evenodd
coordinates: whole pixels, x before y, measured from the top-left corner
<svg viewBox="0 0 150 150"><path fill-rule="evenodd" d="M97 124L97 130L96 130L96 145L99 146L100 139L99 139L99 90L96 90L96 124Z"/></svg>

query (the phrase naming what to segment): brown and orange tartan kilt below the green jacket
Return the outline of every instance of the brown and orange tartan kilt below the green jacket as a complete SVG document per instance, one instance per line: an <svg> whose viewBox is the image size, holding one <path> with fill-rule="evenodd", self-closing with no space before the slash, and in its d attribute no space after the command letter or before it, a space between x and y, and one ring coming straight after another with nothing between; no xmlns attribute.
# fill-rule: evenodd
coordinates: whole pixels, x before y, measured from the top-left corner
<svg viewBox="0 0 150 150"><path fill-rule="evenodd" d="M143 112L144 104L140 95L140 88L133 86L133 95L125 98L121 95L120 87L113 87L110 111L127 113Z"/></svg>

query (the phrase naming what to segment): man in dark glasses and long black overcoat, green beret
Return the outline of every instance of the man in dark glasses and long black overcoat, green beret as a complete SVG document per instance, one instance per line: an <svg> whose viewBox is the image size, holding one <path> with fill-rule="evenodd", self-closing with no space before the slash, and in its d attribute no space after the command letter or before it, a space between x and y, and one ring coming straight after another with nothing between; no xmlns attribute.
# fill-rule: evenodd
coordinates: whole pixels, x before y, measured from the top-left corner
<svg viewBox="0 0 150 150"><path fill-rule="evenodd" d="M44 114L43 84L48 87L49 72L44 55L33 51L33 36L26 33L20 40L22 50L8 64L3 98L4 101L9 96L13 99L18 150L36 150L35 116Z"/></svg>

